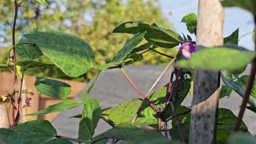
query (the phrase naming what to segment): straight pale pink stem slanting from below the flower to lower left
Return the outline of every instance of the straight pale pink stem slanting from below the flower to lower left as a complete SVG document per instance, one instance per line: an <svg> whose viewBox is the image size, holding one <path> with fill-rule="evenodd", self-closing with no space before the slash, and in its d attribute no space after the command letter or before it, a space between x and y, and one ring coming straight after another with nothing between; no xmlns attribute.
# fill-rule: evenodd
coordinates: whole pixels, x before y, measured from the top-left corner
<svg viewBox="0 0 256 144"><path fill-rule="evenodd" d="M175 59L176 59L176 57L173 58L173 59L169 62L169 64L168 64L168 65L165 67L165 69L163 70L162 74L160 74L160 75L158 76L158 78L156 79L155 83L151 86L151 88L149 89L149 91L148 91L146 97L144 97L144 99L142 100L142 102L141 102L141 104L140 104L140 106L139 106L139 108L138 108L136 114L134 115L131 124L134 124L134 122L136 121L136 119L137 119L137 117L138 117L138 114L139 114L139 112L140 112L140 109L142 108L142 105L144 104L145 100L148 98L149 94L150 94L151 91L154 89L154 87L156 86L156 84L160 81L160 79L163 77L163 75L166 73L166 71L170 68L170 66L171 66L172 63L175 61Z"/></svg>

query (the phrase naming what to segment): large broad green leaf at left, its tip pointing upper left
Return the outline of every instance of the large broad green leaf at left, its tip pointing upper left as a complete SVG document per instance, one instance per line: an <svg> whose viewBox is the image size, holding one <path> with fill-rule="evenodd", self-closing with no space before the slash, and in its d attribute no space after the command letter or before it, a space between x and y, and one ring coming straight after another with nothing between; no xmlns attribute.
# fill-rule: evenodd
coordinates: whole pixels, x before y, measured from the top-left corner
<svg viewBox="0 0 256 144"><path fill-rule="evenodd" d="M24 36L68 76L78 77L93 68L94 52L79 37L62 32L37 32Z"/></svg>

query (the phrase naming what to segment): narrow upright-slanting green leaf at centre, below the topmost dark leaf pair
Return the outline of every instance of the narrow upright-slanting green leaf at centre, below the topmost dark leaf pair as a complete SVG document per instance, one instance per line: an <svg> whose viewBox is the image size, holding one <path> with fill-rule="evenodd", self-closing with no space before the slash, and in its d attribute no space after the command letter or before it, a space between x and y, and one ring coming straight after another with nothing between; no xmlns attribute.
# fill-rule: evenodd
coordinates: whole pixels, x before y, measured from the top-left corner
<svg viewBox="0 0 256 144"><path fill-rule="evenodd" d="M143 33L139 33L135 36L133 36L123 47L123 49L121 49L115 59L114 59L114 62L117 62L117 63L121 63L127 55L129 55L132 50L135 48L135 46L137 46L143 39L145 35L145 32Z"/></svg>

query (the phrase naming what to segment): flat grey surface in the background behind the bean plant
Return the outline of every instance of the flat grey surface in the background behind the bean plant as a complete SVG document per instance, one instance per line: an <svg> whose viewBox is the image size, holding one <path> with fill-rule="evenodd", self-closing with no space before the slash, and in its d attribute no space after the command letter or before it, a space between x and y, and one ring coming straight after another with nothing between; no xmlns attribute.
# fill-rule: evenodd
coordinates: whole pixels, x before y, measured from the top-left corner
<svg viewBox="0 0 256 144"><path fill-rule="evenodd" d="M162 73L165 66L125 66L127 74L133 79L134 83L142 90L143 93L147 93L151 85L155 82L156 78ZM250 68L245 70L244 74L249 74ZM155 90L161 88L169 82L171 69L163 76L161 81L155 87ZM81 92L84 93L91 82L87 84L85 89ZM74 89L74 88L73 88ZM100 74L98 81L95 83L89 97L96 98L101 102L101 108L116 107L119 103L132 98L141 98L140 94L132 87L132 85L126 80L124 75L119 69L106 70ZM74 100L81 100L78 96ZM222 98L219 101L219 107L229 108L235 115L238 115L239 105L242 103L242 98L232 92L230 98ZM183 106L191 106L190 94L182 102ZM66 137L77 138L78 137L78 125L79 118L68 118L70 116L78 115L82 113L83 106L72 108L60 113L57 118L52 121L52 125L57 129L59 135ZM256 133L256 114L250 110L245 111L243 121L249 127L249 131L252 134ZM98 135L102 132L111 129L106 122L100 119L94 135Z"/></svg>

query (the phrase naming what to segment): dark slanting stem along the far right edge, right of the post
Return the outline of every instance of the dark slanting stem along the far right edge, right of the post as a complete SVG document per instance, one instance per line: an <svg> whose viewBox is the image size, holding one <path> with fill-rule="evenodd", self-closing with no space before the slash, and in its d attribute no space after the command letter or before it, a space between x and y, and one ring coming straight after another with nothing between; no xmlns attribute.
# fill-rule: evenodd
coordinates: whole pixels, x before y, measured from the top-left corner
<svg viewBox="0 0 256 144"><path fill-rule="evenodd" d="M254 15L254 23L256 25L255 15ZM255 35L256 35L256 33L255 33ZM256 43L255 43L254 51L256 51ZM243 102L242 102L242 105L241 105L241 108L240 108L240 111L239 111L239 114L238 114L238 117L237 117L236 125L235 125L235 128L234 128L235 132L239 130L239 126L242 122L242 118L243 118L243 115L244 115L244 110L246 108L247 101L249 100L250 94L251 94L251 91L252 91L252 87L253 87L253 83L254 83L254 79L255 79L255 74L256 74L256 58L254 58L252 60L251 73L250 73L250 76L249 76L249 80L247 82L246 90L245 90L245 93L244 93L244 96L243 96Z"/></svg>

